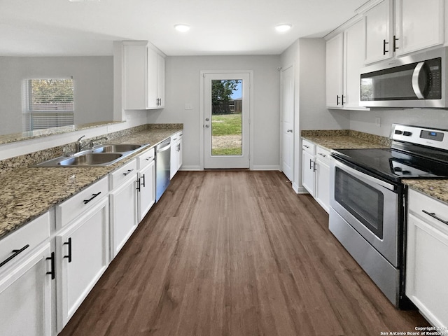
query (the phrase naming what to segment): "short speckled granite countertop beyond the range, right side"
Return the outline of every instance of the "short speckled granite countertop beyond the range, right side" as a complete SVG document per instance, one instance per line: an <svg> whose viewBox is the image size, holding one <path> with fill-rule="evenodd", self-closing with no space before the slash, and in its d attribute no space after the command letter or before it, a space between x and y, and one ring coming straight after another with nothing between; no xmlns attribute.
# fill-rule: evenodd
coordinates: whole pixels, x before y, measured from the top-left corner
<svg viewBox="0 0 448 336"><path fill-rule="evenodd" d="M302 138L328 151L342 148L388 148L390 139L352 130L303 130Z"/></svg>

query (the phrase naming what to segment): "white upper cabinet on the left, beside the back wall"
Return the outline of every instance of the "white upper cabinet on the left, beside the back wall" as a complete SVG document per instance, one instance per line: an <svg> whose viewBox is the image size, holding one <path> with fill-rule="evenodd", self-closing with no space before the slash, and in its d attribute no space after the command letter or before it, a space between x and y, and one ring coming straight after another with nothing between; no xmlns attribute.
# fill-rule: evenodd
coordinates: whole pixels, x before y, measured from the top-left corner
<svg viewBox="0 0 448 336"><path fill-rule="evenodd" d="M165 58L148 41L123 42L124 109L165 106Z"/></svg>

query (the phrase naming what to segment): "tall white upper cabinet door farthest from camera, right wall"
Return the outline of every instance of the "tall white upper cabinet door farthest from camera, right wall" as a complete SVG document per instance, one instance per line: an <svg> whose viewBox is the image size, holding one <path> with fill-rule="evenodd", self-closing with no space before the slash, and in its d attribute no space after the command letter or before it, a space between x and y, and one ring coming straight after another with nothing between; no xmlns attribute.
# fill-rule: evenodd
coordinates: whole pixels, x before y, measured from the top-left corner
<svg viewBox="0 0 448 336"><path fill-rule="evenodd" d="M339 34L326 43L327 107L342 107L342 67L344 57L344 34Z"/></svg>

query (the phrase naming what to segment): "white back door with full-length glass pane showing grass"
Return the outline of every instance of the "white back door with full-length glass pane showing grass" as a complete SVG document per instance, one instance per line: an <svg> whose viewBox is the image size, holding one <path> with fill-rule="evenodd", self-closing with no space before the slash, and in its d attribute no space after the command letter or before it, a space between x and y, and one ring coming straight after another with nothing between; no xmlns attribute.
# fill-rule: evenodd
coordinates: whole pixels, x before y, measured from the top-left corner
<svg viewBox="0 0 448 336"><path fill-rule="evenodd" d="M249 168L250 73L204 73L204 168Z"/></svg>

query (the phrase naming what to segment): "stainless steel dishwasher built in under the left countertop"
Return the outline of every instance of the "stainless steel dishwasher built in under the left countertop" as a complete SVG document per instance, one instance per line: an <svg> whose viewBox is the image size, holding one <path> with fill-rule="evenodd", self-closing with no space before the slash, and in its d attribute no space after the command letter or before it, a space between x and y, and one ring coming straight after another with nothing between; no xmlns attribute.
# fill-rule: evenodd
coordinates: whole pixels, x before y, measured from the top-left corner
<svg viewBox="0 0 448 336"><path fill-rule="evenodd" d="M171 139L155 146L155 202L160 200L169 186Z"/></svg>

